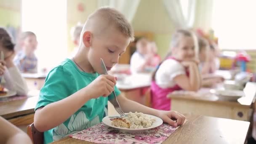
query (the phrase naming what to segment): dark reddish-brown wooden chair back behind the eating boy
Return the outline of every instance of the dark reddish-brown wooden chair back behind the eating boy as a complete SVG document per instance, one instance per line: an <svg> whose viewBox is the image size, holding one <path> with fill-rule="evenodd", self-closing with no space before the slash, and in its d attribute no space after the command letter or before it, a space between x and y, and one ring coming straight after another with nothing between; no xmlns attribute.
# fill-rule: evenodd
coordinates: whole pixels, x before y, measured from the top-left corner
<svg viewBox="0 0 256 144"><path fill-rule="evenodd" d="M27 135L30 137L33 144L43 144L43 132L37 131L34 123L27 126Z"/></svg>

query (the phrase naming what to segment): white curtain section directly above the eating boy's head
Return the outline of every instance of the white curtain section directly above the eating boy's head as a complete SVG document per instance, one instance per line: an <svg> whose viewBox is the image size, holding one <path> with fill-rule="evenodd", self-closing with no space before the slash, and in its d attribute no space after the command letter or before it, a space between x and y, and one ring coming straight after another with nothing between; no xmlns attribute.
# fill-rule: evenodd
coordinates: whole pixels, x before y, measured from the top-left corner
<svg viewBox="0 0 256 144"><path fill-rule="evenodd" d="M131 22L135 16L140 0L98 0L98 7L109 6L116 8L125 15L126 19Z"/></svg>

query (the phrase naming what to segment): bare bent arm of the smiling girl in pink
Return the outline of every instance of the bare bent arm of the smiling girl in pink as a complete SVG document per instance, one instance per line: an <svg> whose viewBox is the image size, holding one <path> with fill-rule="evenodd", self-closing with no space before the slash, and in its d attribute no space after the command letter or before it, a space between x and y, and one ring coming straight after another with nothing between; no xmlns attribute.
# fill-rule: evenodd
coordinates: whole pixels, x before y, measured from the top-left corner
<svg viewBox="0 0 256 144"><path fill-rule="evenodd" d="M189 77L187 75L177 75L173 80L184 90L197 91L201 87L201 77L197 64L194 61L182 62L184 67L189 69Z"/></svg>

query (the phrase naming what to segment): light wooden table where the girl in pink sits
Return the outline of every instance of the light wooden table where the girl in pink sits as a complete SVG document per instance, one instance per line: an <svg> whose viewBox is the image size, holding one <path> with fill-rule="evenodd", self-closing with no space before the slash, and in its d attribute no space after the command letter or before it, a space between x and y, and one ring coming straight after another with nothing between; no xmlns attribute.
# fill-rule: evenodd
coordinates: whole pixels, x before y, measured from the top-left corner
<svg viewBox="0 0 256 144"><path fill-rule="evenodd" d="M245 97L238 101L222 101L217 96L205 91L192 94L169 94L171 109L181 113L207 115L234 120L250 121L256 95L256 83L247 83Z"/></svg>

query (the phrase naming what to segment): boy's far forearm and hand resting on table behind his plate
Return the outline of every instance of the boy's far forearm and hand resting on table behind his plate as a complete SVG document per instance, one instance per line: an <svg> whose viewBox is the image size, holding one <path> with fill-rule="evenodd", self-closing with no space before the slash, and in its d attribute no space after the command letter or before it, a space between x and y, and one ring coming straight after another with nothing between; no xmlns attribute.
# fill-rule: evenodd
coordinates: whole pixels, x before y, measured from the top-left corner
<svg viewBox="0 0 256 144"><path fill-rule="evenodd" d="M168 123L174 127L177 125L182 125L185 121L184 115L180 114L179 112L152 109L135 101L126 99L124 96L122 96L122 94L117 96L117 100L124 112L142 112L144 114L155 115L160 117L165 123ZM175 119L176 122L173 121L173 119Z"/></svg>

